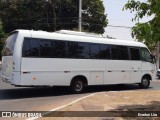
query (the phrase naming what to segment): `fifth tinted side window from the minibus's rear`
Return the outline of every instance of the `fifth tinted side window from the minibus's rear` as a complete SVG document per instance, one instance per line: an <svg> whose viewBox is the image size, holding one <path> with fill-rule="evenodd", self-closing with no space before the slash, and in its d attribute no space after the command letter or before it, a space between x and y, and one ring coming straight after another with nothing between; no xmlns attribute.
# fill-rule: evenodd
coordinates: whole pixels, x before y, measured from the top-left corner
<svg viewBox="0 0 160 120"><path fill-rule="evenodd" d="M89 58L89 45L88 43L78 43L79 58Z"/></svg>

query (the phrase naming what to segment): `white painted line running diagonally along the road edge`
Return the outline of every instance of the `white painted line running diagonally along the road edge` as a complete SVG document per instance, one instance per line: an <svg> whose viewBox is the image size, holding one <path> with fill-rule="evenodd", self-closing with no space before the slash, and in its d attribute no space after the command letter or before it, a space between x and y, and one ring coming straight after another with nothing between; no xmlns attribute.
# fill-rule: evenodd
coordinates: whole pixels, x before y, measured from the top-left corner
<svg viewBox="0 0 160 120"><path fill-rule="evenodd" d="M54 108L54 109L52 109L52 110L49 110L48 112L44 113L43 115L46 115L46 114L49 114L49 113L51 113L51 112L53 112L53 111L57 111L57 110L60 110L60 109L62 109L62 108L65 108L65 107L67 107L67 106L70 106L70 105L72 105L72 104L74 104L74 103L77 103L77 102L83 100L83 99L86 99L86 98L88 98L88 97L94 96L95 94L96 94L96 93L93 93L93 94L90 94L90 95L81 97L81 98L79 98L79 99L77 99L77 100L74 100L74 101L72 101L72 102L70 102L70 103L68 103L68 104L66 104L66 105L63 105L63 106ZM39 118L39 117L31 117L31 118L28 118L28 119L26 119L26 120L36 120L36 119L38 119L38 118Z"/></svg>

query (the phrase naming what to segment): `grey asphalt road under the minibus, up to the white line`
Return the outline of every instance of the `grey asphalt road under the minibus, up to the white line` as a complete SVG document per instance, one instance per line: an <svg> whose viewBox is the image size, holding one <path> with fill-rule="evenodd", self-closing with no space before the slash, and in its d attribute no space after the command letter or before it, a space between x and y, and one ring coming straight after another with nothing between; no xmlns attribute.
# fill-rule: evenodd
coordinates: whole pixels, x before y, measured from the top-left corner
<svg viewBox="0 0 160 120"><path fill-rule="evenodd" d="M67 87L14 87L0 80L0 111L48 111L80 97L102 91L141 90L137 85L88 87L83 94L71 94ZM160 90L160 80L152 81L147 90Z"/></svg>

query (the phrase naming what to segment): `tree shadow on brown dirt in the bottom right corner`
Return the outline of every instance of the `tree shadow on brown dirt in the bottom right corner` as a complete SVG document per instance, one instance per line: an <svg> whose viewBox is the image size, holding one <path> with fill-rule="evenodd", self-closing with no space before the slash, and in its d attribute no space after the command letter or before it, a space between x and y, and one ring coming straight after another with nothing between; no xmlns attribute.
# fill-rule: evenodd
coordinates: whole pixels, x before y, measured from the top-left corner
<svg viewBox="0 0 160 120"><path fill-rule="evenodd" d="M113 111L120 111L119 112L120 116L125 116L125 117L122 117L123 120L160 120L160 112L159 112L160 102L159 101L152 101L147 105L135 104L135 105L119 106ZM138 114L140 114L141 116L138 117ZM146 114L146 117L143 117L142 114L143 115ZM156 115L158 115L159 117L155 117Z"/></svg>

